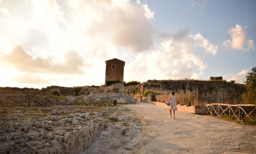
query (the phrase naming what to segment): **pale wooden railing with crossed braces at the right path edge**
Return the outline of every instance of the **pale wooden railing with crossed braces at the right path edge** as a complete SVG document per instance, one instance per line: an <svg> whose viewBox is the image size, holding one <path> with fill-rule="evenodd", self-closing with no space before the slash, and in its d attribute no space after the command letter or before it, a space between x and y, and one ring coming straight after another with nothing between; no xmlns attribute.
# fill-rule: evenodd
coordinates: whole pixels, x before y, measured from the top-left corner
<svg viewBox="0 0 256 154"><path fill-rule="evenodd" d="M233 119L235 117L240 122L244 122L246 118L249 118L256 125L256 123L252 119L252 115L256 110L256 105L207 104L205 106L208 109L207 114L210 113L213 116L216 114L218 117L220 117L221 115L225 115L227 119Z"/></svg>

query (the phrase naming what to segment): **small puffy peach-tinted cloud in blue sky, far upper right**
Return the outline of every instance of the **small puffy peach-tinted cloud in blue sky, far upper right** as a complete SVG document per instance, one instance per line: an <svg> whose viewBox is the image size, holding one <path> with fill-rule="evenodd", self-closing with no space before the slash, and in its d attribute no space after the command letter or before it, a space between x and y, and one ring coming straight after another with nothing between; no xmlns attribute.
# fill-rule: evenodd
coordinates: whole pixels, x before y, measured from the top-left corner
<svg viewBox="0 0 256 154"><path fill-rule="evenodd" d="M254 41L247 40L245 41L247 26L242 27L241 25L236 24L235 27L229 28L229 34L231 35L231 40L225 40L222 44L225 48L231 47L235 50L248 51L254 49Z"/></svg>

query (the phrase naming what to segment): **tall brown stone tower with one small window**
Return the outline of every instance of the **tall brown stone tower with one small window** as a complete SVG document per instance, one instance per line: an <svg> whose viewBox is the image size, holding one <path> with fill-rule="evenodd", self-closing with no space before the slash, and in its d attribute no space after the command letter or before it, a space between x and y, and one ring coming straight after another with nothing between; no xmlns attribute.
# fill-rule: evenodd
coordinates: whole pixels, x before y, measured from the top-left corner
<svg viewBox="0 0 256 154"><path fill-rule="evenodd" d="M124 61L116 58L106 61L105 85L124 82L124 65Z"/></svg>

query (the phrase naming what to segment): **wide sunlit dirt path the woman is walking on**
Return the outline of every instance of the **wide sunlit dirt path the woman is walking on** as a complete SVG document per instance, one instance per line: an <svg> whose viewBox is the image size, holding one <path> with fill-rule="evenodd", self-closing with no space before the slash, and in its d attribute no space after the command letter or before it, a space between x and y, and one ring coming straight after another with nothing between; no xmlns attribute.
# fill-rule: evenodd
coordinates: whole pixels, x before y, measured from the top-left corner
<svg viewBox="0 0 256 154"><path fill-rule="evenodd" d="M139 154L244 154L256 153L256 126L245 126L214 117L176 112L147 103L123 105L145 121Z"/></svg>

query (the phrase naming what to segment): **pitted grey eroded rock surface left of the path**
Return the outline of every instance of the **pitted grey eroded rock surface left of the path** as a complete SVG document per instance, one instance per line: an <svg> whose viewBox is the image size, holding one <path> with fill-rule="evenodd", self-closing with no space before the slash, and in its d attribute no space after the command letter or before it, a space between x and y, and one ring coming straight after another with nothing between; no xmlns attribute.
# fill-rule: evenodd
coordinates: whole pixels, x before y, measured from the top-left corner
<svg viewBox="0 0 256 154"><path fill-rule="evenodd" d="M104 129L121 130L117 135L133 138L129 146L136 147L142 126L137 125L133 112L122 106L2 107L0 153L76 154L86 150ZM106 135L115 138L116 134Z"/></svg>

